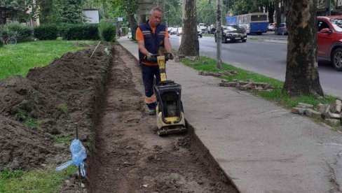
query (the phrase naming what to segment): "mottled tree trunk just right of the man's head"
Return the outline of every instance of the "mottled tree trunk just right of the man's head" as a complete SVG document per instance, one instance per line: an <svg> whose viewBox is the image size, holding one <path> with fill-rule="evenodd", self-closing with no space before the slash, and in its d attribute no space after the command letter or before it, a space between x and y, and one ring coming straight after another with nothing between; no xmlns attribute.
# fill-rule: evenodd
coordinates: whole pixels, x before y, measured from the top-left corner
<svg viewBox="0 0 342 193"><path fill-rule="evenodd" d="M186 56L200 55L200 43L197 32L196 0L183 1L183 32L179 54Z"/></svg>

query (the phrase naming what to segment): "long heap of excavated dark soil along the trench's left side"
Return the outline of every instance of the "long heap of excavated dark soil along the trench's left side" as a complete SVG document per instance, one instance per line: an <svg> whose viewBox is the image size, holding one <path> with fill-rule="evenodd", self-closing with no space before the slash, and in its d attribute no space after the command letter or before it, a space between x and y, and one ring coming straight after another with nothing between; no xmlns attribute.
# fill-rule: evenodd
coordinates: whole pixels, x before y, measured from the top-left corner
<svg viewBox="0 0 342 193"><path fill-rule="evenodd" d="M91 58L95 46L32 69L27 78L0 81L0 169L67 161L69 147L54 138L74 134L76 122L78 137L88 139L111 64L105 48L111 45L99 45Z"/></svg>

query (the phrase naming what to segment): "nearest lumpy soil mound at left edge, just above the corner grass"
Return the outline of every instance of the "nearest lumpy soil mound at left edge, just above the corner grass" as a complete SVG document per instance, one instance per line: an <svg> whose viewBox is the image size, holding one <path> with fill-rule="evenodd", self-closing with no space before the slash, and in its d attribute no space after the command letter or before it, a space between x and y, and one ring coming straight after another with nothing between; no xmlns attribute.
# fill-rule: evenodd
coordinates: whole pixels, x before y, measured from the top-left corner
<svg viewBox="0 0 342 193"><path fill-rule="evenodd" d="M27 128L20 122L0 116L0 164L12 169L40 166L46 160L55 161L57 152L48 135Z"/></svg>

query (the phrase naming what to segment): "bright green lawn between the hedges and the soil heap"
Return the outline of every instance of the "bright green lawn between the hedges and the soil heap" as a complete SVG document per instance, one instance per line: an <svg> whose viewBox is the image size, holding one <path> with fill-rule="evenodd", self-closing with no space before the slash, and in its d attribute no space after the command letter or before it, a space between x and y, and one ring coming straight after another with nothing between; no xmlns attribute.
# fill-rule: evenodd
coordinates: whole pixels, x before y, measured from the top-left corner
<svg viewBox="0 0 342 193"><path fill-rule="evenodd" d="M93 44L95 41L33 41L4 45L0 48L0 80L9 76L27 76L29 69L47 66L56 57L66 52L74 52L85 47L75 47L74 43Z"/></svg>

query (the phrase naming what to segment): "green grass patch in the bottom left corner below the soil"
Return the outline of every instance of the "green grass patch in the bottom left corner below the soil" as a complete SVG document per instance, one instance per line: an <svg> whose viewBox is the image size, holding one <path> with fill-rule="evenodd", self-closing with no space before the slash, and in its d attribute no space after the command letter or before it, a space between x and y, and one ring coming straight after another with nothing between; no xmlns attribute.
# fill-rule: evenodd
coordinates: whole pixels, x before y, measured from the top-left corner
<svg viewBox="0 0 342 193"><path fill-rule="evenodd" d="M76 166L69 166L62 171L55 171L55 166L32 171L0 172L0 192L60 192L64 180L76 173Z"/></svg>

